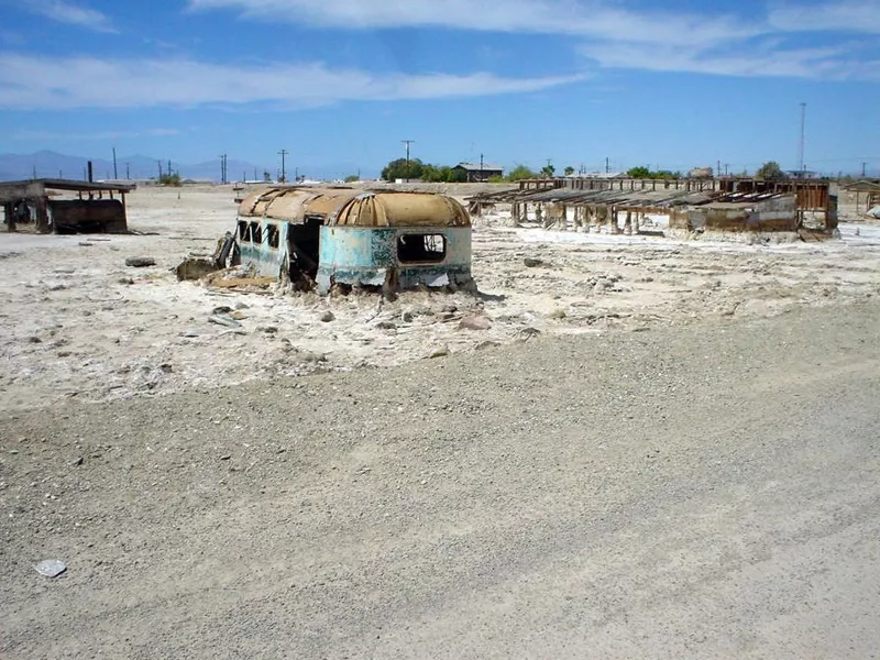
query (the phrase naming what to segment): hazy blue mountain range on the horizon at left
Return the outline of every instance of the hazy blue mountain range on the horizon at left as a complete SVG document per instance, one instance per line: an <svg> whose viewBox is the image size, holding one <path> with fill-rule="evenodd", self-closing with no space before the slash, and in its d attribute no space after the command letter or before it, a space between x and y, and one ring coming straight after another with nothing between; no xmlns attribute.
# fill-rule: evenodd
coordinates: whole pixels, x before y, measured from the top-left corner
<svg viewBox="0 0 880 660"><path fill-rule="evenodd" d="M92 175L96 180L114 178L112 161L41 151L33 154L0 154L0 180L30 179L34 176L36 178L85 179L89 160L91 160ZM172 170L179 173L182 178L220 182L220 158L195 164L172 161L170 165ZM167 168L168 162L162 161L162 172L166 172ZM246 161L229 158L227 161L227 179L230 182L242 180L242 177L249 180L262 179L264 172L268 172L270 176L275 177L277 168L277 166L265 167ZM356 173L356 167L350 163L300 170L300 174L318 179L341 178L352 173ZM157 178L158 174L158 158L143 155L117 157L116 178L144 180ZM295 172L288 172L288 178L293 178L294 174Z"/></svg>

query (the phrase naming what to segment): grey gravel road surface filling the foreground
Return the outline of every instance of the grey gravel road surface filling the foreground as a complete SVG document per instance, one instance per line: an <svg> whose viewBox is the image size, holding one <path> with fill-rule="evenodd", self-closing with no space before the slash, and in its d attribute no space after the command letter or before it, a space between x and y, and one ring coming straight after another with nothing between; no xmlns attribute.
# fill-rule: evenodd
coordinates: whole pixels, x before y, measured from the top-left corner
<svg viewBox="0 0 880 660"><path fill-rule="evenodd" d="M8 415L0 656L876 658L878 319Z"/></svg>

